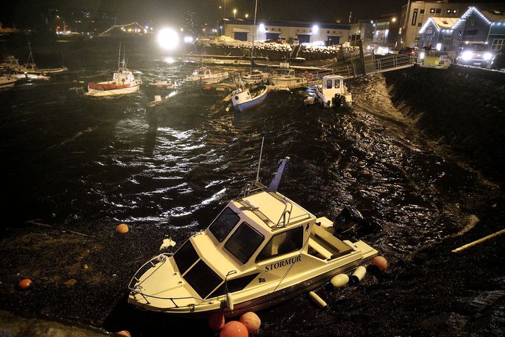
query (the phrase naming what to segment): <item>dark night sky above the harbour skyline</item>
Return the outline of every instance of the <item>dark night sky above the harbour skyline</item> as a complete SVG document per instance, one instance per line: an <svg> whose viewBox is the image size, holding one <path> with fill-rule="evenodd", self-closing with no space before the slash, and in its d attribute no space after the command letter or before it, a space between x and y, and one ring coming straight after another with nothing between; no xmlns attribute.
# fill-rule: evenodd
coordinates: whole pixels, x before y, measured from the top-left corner
<svg viewBox="0 0 505 337"><path fill-rule="evenodd" d="M18 0L3 1L0 19L4 26L29 28L30 22L40 19L47 8L88 9L94 11L112 11L118 23L145 21L149 18L154 23L178 26L187 11L196 14L196 23L217 23L219 6L225 6L227 16L233 16L232 9L237 9L237 17L249 13L254 16L254 0ZM456 1L455 1L456 2ZM459 2L459 1L458 1ZM472 2L472 1L468 1ZM503 2L503 1L473 1ZM399 13L407 0L259 0L258 18L280 18L307 21L346 22L349 11L353 19L378 18L389 13Z"/></svg>

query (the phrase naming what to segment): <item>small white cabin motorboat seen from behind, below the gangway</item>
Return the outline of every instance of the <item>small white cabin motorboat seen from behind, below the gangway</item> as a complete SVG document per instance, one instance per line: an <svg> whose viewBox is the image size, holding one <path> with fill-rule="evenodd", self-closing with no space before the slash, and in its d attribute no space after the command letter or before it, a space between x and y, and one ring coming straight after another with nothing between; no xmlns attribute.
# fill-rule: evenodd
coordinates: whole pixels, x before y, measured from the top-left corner
<svg viewBox="0 0 505 337"><path fill-rule="evenodd" d="M350 108L353 104L353 96L344 84L344 77L339 75L324 76L323 83L316 87L316 94L319 103L325 108L334 106Z"/></svg>

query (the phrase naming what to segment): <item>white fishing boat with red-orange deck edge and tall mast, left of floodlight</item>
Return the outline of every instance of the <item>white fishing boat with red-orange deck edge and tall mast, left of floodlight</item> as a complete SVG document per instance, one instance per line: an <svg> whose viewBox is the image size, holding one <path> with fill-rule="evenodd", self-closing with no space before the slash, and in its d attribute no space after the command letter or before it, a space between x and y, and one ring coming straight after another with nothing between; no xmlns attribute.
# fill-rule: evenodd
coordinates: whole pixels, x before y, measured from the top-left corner
<svg viewBox="0 0 505 337"><path fill-rule="evenodd" d="M90 82L88 84L87 96L113 96L124 95L137 92L142 84L142 80L135 79L133 72L126 67L125 53L121 60L121 45L119 46L118 71L114 72L110 81Z"/></svg>

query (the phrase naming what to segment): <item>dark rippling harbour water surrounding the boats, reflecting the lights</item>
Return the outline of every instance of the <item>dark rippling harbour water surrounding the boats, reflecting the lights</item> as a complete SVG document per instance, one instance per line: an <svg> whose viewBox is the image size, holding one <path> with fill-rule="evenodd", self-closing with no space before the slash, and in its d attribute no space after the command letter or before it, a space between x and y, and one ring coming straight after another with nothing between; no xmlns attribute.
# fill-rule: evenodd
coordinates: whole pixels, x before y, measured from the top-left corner
<svg viewBox="0 0 505 337"><path fill-rule="evenodd" d="M0 306L134 336L215 336L205 321L133 308L127 283L164 238L178 248L242 192L264 137L261 180L289 156L280 192L329 219L343 206L359 209L381 228L363 240L391 267L359 285L316 289L329 309L301 295L259 312L259 336L504 333L504 238L450 253L503 226L502 182L419 128L409 95L392 99L397 79L349 80L352 109L305 106L305 91L272 92L244 114L225 112L220 92L183 92L149 109L159 92L146 87L103 99L70 89L74 79L108 79L101 73L117 67L117 48L33 43L35 62L57 65L63 54L69 74L0 92ZM144 83L181 82L196 67L150 43L125 49ZM113 235L117 223L129 236ZM18 277L33 278L35 289L16 291Z"/></svg>

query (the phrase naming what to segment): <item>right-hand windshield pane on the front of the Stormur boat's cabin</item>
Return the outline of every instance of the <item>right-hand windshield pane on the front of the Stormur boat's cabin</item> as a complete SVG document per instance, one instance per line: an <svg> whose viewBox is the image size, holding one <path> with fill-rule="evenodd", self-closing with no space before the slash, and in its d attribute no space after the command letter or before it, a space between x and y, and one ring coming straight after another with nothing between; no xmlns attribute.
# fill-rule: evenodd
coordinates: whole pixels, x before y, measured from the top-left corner
<svg viewBox="0 0 505 337"><path fill-rule="evenodd" d="M225 248L240 262L246 263L264 238L256 229L249 226L249 223L243 222L225 243Z"/></svg>

